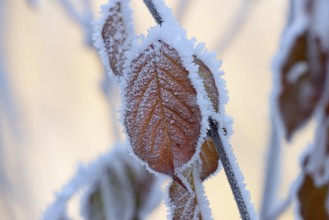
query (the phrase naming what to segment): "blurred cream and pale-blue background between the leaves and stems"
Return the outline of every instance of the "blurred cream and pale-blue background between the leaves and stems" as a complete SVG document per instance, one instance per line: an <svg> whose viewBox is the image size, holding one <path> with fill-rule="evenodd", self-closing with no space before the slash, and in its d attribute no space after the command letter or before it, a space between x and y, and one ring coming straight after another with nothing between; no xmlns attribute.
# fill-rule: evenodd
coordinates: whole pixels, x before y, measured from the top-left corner
<svg viewBox="0 0 329 220"><path fill-rule="evenodd" d="M79 163L124 140L116 119L117 88L106 80L88 41L89 22L79 21L65 2L0 0L0 219L40 218ZM83 1L70 2L84 13ZM89 17L95 19L106 1L90 2L94 16ZM257 210L270 131L271 63L287 2L166 0L188 36L223 60L227 112L234 119L231 144ZM146 34L155 22L141 0L132 0L132 8L136 31ZM299 172L299 154L309 136L304 132L284 147L283 198ZM205 186L214 219L239 219L224 172ZM280 219L293 219L293 209ZM78 210L70 212L79 219ZM166 216L162 204L149 219Z"/></svg>

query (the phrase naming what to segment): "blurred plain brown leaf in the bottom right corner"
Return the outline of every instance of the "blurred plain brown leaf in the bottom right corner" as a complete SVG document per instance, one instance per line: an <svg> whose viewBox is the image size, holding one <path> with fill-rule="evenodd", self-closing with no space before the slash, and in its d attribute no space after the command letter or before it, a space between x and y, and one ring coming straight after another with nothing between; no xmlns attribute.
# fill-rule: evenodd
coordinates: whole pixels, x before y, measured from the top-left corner
<svg viewBox="0 0 329 220"><path fill-rule="evenodd" d="M328 220L326 210L328 184L316 187L312 176L305 175L298 190L299 213L304 220Z"/></svg>

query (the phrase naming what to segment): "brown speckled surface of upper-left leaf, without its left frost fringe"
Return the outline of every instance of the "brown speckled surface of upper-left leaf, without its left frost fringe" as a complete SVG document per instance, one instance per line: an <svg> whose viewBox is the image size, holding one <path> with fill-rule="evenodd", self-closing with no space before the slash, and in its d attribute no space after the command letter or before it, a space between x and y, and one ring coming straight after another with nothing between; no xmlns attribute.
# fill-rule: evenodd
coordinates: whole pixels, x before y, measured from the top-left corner
<svg viewBox="0 0 329 220"><path fill-rule="evenodd" d="M123 7L129 7L126 1L116 2L109 8L109 15L102 28L102 38L108 55L108 62L114 75L122 76L126 60L125 51L129 48L126 17L122 13Z"/></svg>

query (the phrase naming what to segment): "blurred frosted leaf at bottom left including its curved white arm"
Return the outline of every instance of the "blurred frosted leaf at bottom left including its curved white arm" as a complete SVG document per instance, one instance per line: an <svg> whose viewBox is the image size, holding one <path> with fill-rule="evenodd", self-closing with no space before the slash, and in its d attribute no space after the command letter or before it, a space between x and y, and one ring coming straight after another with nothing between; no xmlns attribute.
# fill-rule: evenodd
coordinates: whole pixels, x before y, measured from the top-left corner
<svg viewBox="0 0 329 220"><path fill-rule="evenodd" d="M127 147L118 144L75 176L56 194L41 219L65 217L68 203L81 189L81 214L85 219L145 219L161 200L161 181L137 161Z"/></svg>

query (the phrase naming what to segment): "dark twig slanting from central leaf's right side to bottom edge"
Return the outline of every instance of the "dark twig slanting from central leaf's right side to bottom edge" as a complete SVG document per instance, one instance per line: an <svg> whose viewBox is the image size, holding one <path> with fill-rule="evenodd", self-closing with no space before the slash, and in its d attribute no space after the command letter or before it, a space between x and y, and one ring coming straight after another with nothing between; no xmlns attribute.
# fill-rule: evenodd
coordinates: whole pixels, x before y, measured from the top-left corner
<svg viewBox="0 0 329 220"><path fill-rule="evenodd" d="M242 196L242 192L239 187L238 180L236 178L237 174L234 173L234 169L231 164L232 161L230 161L230 159L227 155L227 152L224 149L222 140L219 137L217 123L213 119L210 118L209 125L210 125L210 135L213 138L219 158L224 167L224 171L225 171L227 180L231 186L231 190L234 195L235 202L238 206L241 218L243 220L249 220L250 214L248 213L246 201L244 201L244 197Z"/></svg>

